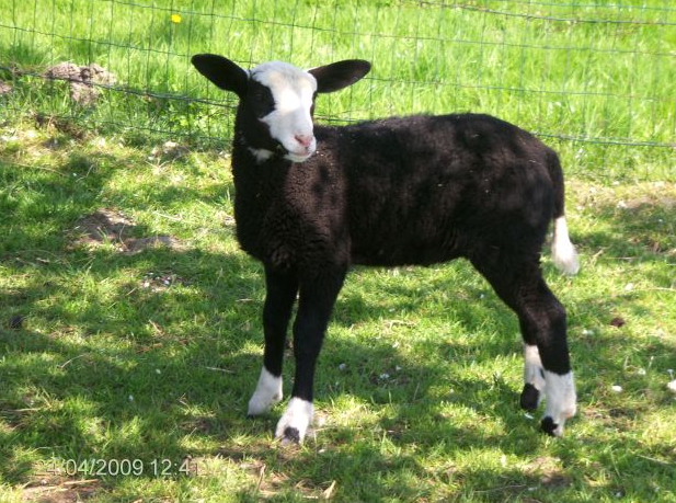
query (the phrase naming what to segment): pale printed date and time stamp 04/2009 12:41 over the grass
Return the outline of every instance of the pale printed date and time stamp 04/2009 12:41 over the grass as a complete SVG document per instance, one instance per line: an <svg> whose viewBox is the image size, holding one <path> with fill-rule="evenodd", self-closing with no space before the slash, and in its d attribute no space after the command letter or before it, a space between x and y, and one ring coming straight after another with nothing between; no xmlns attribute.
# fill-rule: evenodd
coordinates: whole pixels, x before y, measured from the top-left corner
<svg viewBox="0 0 676 503"><path fill-rule="evenodd" d="M45 465L45 472L68 477L176 477L197 475L197 464L191 458L180 461L171 459L51 458L46 460Z"/></svg>

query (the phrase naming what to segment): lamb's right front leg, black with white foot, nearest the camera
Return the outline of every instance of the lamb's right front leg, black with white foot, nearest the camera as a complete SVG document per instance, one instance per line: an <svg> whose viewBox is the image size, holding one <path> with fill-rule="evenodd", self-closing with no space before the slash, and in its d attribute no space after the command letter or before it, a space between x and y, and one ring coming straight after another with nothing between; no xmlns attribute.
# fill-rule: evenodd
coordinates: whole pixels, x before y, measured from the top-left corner
<svg viewBox="0 0 676 503"><path fill-rule="evenodd" d="M298 315L294 323L296 378L291 399L275 431L275 436L285 442L301 443L312 423L314 368L344 278L345 270L341 268L301 281Z"/></svg>

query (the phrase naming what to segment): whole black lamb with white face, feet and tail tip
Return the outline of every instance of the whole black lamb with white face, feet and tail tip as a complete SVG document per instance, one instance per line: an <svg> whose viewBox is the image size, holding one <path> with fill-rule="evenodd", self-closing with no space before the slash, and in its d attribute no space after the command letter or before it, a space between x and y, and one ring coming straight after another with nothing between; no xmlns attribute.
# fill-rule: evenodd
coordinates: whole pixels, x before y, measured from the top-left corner
<svg viewBox="0 0 676 503"><path fill-rule="evenodd" d="M282 361L294 322L296 376L276 436L302 442L312 420L314 367L352 264L397 266L468 259L518 316L524 339L520 404L547 396L542 428L560 435L575 414L565 310L540 271L552 252L577 272L563 174L553 150L488 115L416 115L313 125L314 99L362 79L363 60L300 70L273 61L248 71L216 55L193 65L234 92L232 170L237 237L265 267L263 369L249 414L282 400Z"/></svg>

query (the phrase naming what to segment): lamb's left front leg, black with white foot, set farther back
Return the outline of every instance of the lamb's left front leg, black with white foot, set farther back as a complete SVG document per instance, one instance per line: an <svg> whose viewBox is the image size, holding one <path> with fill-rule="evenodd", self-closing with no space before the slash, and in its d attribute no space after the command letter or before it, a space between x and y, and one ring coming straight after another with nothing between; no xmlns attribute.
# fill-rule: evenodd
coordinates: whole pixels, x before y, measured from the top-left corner
<svg viewBox="0 0 676 503"><path fill-rule="evenodd" d="M278 272L266 267L265 287L263 307L265 352L256 390L249 400L249 415L263 414L282 400L284 343L298 293L298 278L291 272Z"/></svg>

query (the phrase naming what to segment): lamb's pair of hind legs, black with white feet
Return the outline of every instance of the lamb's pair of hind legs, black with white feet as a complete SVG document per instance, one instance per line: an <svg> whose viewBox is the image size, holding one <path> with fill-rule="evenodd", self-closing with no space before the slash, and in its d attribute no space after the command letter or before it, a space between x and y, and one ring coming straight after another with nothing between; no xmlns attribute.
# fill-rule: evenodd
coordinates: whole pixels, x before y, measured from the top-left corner
<svg viewBox="0 0 676 503"><path fill-rule="evenodd" d="M473 263L519 318L525 343L522 407L532 410L546 396L542 430L561 435L565 421L576 412L565 309L542 279L537 260L508 270L485 261Z"/></svg>

